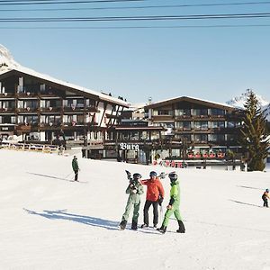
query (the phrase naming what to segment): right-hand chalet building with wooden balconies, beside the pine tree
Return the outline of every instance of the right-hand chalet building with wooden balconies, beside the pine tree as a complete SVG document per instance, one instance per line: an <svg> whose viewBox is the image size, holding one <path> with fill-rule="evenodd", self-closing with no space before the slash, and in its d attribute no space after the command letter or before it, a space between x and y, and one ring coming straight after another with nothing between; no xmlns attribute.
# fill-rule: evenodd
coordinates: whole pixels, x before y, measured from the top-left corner
<svg viewBox="0 0 270 270"><path fill-rule="evenodd" d="M182 96L145 106L150 126L166 129L162 157L224 158L228 149L238 153L243 112L222 103ZM164 152L165 150L165 152Z"/></svg>

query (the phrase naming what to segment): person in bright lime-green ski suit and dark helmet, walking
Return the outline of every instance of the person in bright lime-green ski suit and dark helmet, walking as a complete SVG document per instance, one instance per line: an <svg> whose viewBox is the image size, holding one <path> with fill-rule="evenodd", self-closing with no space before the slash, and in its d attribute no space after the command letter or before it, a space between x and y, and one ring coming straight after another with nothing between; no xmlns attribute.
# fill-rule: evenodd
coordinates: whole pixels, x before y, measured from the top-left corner
<svg viewBox="0 0 270 270"><path fill-rule="evenodd" d="M179 225L179 229L177 229L176 232L184 233L185 232L184 223L182 221L180 211L179 211L180 187L179 187L179 182L177 181L178 175L176 175L175 172L172 172L168 176L171 181L170 202L166 206L166 213L165 213L162 225L157 230L161 233L165 233L169 218L174 213L175 218Z"/></svg>

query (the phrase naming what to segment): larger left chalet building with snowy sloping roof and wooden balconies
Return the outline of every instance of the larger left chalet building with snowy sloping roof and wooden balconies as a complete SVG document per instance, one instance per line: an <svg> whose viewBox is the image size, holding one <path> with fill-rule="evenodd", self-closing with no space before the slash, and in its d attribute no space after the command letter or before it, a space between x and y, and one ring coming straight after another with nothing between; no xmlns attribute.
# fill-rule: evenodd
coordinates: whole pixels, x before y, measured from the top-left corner
<svg viewBox="0 0 270 270"><path fill-rule="evenodd" d="M0 74L0 136L20 140L103 141L128 103L31 69Z"/></svg>

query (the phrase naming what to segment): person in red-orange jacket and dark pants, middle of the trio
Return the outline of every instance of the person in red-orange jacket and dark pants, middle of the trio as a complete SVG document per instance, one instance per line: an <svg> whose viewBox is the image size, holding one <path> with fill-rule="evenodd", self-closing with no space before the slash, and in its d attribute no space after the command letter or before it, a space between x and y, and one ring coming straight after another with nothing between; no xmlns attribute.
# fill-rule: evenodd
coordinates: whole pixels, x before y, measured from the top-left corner
<svg viewBox="0 0 270 270"><path fill-rule="evenodd" d="M151 205L153 205L153 225L157 228L158 222L158 204L161 205L164 198L164 189L163 185L161 184L160 180L157 178L157 173L152 171L149 174L150 179L148 180L141 180L141 184L147 185L147 196L146 202L143 208L143 224L141 228L146 228L149 225L148 220L148 210Z"/></svg>

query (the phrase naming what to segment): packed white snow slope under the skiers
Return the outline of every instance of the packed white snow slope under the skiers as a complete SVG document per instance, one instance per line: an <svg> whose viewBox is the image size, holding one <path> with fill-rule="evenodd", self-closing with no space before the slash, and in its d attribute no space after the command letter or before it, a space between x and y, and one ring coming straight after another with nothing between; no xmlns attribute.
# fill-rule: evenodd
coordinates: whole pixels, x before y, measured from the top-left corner
<svg viewBox="0 0 270 270"><path fill-rule="evenodd" d="M162 235L117 226L125 169L147 178L170 168L79 157L76 183L72 157L0 149L0 160L0 269L270 269L269 171L176 169L186 233L172 219ZM141 201L139 224L145 193Z"/></svg>

